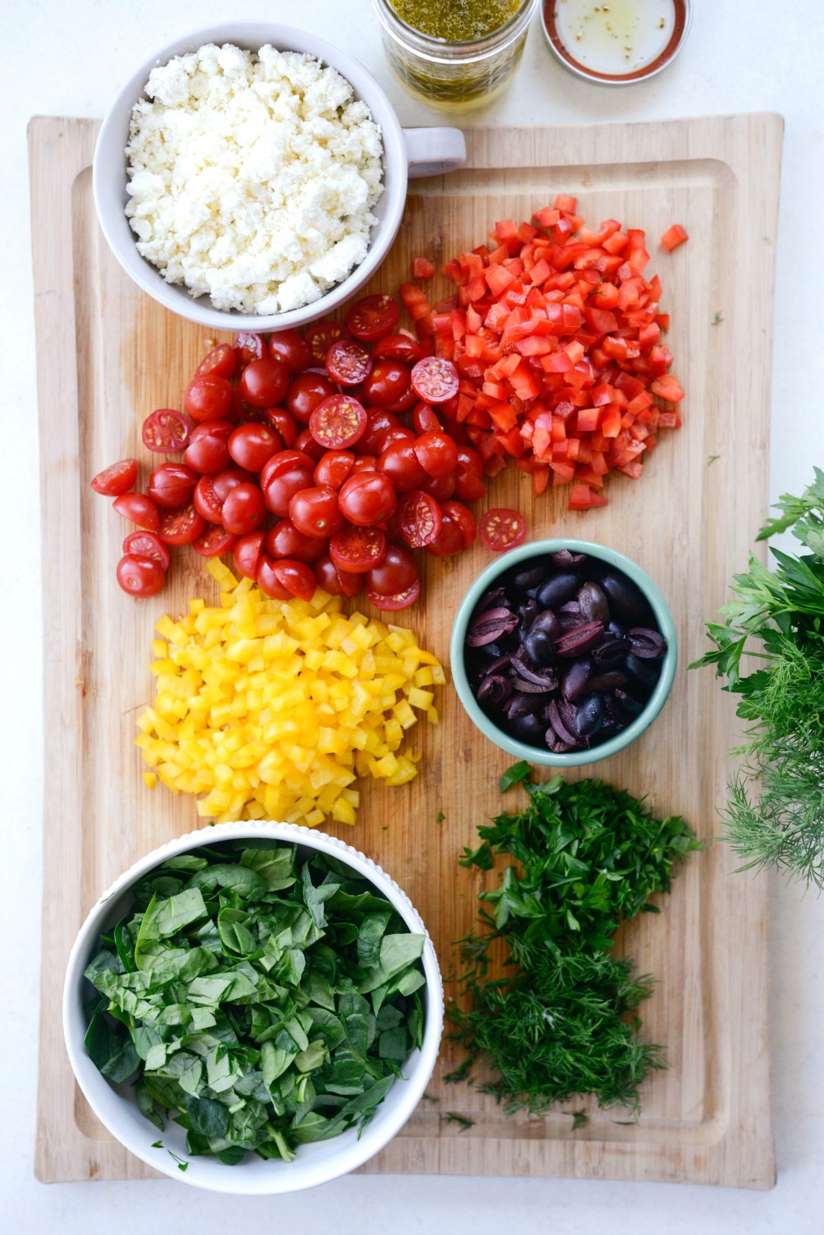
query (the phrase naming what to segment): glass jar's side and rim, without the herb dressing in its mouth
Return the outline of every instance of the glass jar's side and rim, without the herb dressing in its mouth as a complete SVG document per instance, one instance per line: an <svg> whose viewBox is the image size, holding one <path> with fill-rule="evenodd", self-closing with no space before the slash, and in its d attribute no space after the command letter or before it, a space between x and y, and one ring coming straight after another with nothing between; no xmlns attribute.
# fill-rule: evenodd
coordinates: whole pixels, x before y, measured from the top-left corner
<svg viewBox="0 0 824 1235"><path fill-rule="evenodd" d="M389 67L413 94L441 107L488 103L520 63L539 0L521 0L509 21L483 38L447 43L408 25L392 0L372 0Z"/></svg>

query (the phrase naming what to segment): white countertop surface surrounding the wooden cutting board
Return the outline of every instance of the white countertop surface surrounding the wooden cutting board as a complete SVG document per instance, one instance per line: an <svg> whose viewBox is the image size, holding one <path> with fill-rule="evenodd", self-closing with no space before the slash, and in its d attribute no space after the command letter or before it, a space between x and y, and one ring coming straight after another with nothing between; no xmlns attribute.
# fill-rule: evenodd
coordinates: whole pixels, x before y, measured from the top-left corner
<svg viewBox="0 0 824 1235"><path fill-rule="evenodd" d="M463 122L574 125L733 111L781 111L787 122L781 188L772 383L771 493L798 493L824 466L824 5L820 0L696 0L681 57L647 84L608 90L579 83L534 27L509 93ZM812 1235L823 1229L824 900L776 882L771 903L771 1035L778 1184L768 1193L681 1184L566 1179L357 1176L277 1202L237 1202L170 1182L43 1186L32 1174L37 1066L41 756L40 520L35 337L28 245L26 122L35 114L103 116L133 64L193 26L237 17L301 25L357 56L395 103L401 122L437 122L390 79L369 0L6 0L1 74L0 269L6 543L0 605L0 751L4 810L4 1115L0 1193L11 1235L57 1230L217 1235L243 1228L300 1235L476 1235L550 1230L602 1235ZM17 289L14 291L12 289ZM759 340L752 341L760 346ZM746 448L746 421L741 425ZM10 530L14 534L10 536ZM48 535L48 529L44 530ZM744 563L741 563L744 566ZM708 616L710 616L708 614ZM46 792L49 793L48 776ZM59 803L56 803L59 809ZM745 878L745 876L740 876ZM277 1205L277 1209L275 1209ZM275 1226L277 1224L277 1226Z"/></svg>

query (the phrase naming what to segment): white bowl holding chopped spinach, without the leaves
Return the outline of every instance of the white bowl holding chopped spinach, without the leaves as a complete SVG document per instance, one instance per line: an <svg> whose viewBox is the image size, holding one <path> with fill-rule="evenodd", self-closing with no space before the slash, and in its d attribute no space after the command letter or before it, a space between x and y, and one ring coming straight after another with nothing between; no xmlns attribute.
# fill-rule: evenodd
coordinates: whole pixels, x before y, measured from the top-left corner
<svg viewBox="0 0 824 1235"><path fill-rule="evenodd" d="M331 853L369 879L389 899L410 931L426 936L423 956L426 977L423 999L424 1042L421 1049L413 1051L404 1063L405 1079L395 1081L359 1137L357 1128L352 1128L332 1140L301 1145L293 1162L263 1161L250 1153L237 1166L226 1166L216 1158L189 1157L185 1131L178 1124L167 1120L163 1132L158 1132L141 1115L130 1087L114 1086L106 1081L83 1045L86 1030L83 1003L94 994L90 983L83 977L83 971L98 951L100 932L112 927L127 911L132 884L147 871L174 855L201 845L236 840L280 840L319 850L321 853ZM63 988L63 1032L69 1061L89 1105L111 1135L136 1157L173 1179L182 1179L184 1183L212 1192L242 1195L299 1192L301 1188L327 1183L348 1171L355 1171L378 1153L403 1128L420 1102L435 1067L442 1031L444 986L437 957L426 927L409 897L379 866L351 845L296 824L219 824L180 836L141 858L112 883L89 913L72 948ZM152 1141L157 1140L163 1141L163 1149L152 1149ZM178 1170L167 1149L188 1161L185 1172Z"/></svg>

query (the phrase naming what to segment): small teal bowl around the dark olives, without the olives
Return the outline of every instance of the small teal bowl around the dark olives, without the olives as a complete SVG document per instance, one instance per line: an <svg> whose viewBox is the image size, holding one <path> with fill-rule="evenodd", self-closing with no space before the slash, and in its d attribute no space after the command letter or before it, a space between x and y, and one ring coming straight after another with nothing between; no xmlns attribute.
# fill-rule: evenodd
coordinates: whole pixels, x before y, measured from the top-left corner
<svg viewBox="0 0 824 1235"><path fill-rule="evenodd" d="M599 746L595 746L589 751L571 751L568 755L556 755L555 751L550 751L549 748L541 750L537 746L519 742L516 737L510 737L509 734L505 734L502 729L499 729L476 701L463 663L463 647L467 627L474 611L474 606L483 593L488 588L495 585L495 580L499 576L502 576L505 571L509 571L513 566L518 566L519 562L528 562L532 557L544 557L547 553L557 553L562 548L568 548L571 553L587 553L588 557L598 558L600 562L605 562L608 566L621 571L629 579L631 579L650 603L658 630L667 641L667 651L663 657L663 664L661 666L661 677L658 678L655 690L650 695L644 711L636 716L635 720L626 726L626 729L624 729L620 734L616 734L614 737L608 739L608 741L602 742ZM676 676L676 666L678 663L678 641L676 637L676 626L672 620L672 614L670 613L670 608L663 599L661 590L652 582L646 571L642 571L641 567L636 566L636 563L630 561L629 557L624 557L623 553L618 553L614 548L605 548L603 545L593 545L591 541L544 540L531 541L529 545L520 545L518 548L514 548L509 553L504 553L502 557L497 558L481 572L472 587L467 590L455 615L455 622L452 624L452 638L450 641L450 662L452 680L461 703L463 704L469 719L474 725L477 725L481 732L489 739L490 742L499 746L502 751L508 751L510 755L515 755L519 760L526 760L528 763L540 763L545 767L556 768L581 767L584 763L599 763L600 760L608 760L610 756L618 755L619 751L625 750L631 742L635 741L636 737L640 737L641 734L650 727L667 701L667 695L672 689L672 682Z"/></svg>

